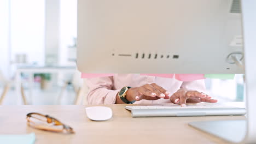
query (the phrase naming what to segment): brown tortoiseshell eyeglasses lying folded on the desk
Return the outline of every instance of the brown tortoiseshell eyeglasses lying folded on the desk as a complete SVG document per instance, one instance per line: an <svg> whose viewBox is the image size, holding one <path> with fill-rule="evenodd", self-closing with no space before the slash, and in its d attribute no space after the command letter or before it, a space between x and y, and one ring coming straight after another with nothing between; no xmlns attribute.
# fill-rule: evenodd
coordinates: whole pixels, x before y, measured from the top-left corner
<svg viewBox="0 0 256 144"><path fill-rule="evenodd" d="M74 133L71 127L61 123L56 118L35 112L27 114L27 125L33 128L54 131L57 133Z"/></svg>

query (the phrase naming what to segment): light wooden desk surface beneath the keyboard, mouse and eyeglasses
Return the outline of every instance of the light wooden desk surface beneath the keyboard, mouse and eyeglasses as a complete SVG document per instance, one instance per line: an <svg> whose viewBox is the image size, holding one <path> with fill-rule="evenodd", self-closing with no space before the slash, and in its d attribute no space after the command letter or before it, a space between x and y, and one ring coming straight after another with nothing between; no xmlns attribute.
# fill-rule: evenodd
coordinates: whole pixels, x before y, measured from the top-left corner
<svg viewBox="0 0 256 144"><path fill-rule="evenodd" d="M83 105L0 106L0 134L36 134L36 143L227 143L189 127L189 122L245 119L245 116L132 118L125 105L106 105L112 119L90 121ZM26 114L40 112L70 125L75 134L57 134L28 127Z"/></svg>

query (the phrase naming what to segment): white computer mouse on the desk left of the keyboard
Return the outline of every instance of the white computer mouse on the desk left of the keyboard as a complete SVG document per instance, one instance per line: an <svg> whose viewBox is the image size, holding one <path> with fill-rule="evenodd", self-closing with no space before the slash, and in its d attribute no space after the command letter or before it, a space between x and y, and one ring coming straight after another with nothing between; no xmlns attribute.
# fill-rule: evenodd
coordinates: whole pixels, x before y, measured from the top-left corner
<svg viewBox="0 0 256 144"><path fill-rule="evenodd" d="M86 115L92 121L106 121L112 117L112 110L106 106L86 107Z"/></svg>

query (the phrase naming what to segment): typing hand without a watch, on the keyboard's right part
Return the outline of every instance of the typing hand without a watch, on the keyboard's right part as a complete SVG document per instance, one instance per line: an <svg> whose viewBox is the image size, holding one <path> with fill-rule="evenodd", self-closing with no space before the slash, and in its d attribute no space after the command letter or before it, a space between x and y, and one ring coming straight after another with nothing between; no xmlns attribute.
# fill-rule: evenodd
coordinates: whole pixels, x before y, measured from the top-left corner
<svg viewBox="0 0 256 144"><path fill-rule="evenodd" d="M205 93L200 93L197 91L189 91L188 89L181 88L176 93L173 93L170 100L174 104L180 104L181 106L186 106L186 103L217 103L218 100L212 99L209 95Z"/></svg>

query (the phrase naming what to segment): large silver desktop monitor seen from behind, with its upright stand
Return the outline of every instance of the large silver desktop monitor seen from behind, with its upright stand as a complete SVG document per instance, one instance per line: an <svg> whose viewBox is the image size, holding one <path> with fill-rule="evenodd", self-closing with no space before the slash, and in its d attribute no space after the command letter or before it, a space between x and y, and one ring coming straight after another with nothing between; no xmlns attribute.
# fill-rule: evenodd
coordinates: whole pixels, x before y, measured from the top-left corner
<svg viewBox="0 0 256 144"><path fill-rule="evenodd" d="M247 142L256 142L256 1L242 1L243 25L235 2L240 1L78 0L78 69L82 73L245 73L237 64L244 63L243 29L245 135Z"/></svg>

